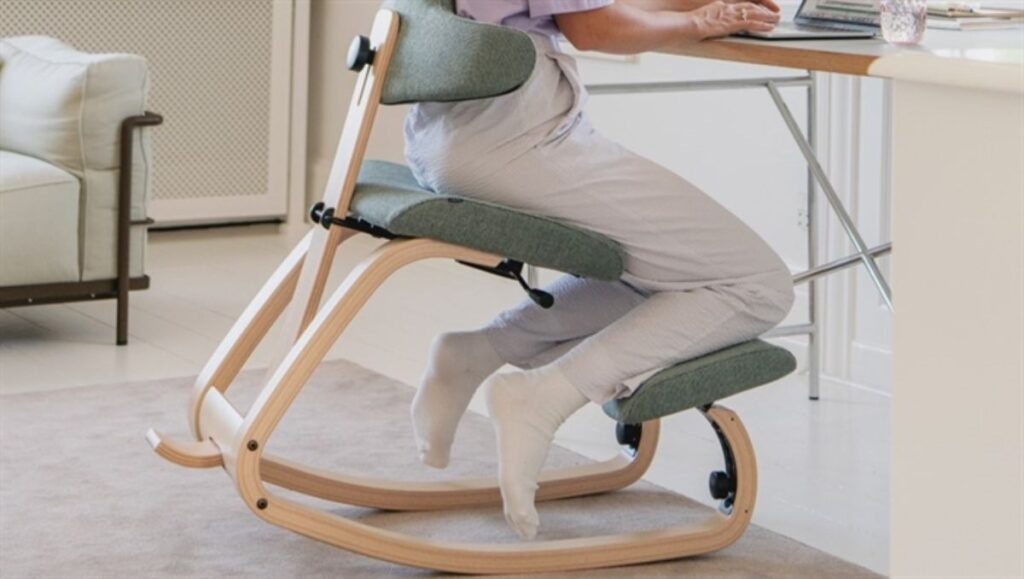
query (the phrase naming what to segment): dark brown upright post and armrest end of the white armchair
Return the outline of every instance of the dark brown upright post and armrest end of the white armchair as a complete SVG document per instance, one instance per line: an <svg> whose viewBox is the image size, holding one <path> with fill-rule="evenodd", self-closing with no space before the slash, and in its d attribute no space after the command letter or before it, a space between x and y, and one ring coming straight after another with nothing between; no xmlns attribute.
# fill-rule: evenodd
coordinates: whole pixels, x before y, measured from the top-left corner
<svg viewBox="0 0 1024 579"><path fill-rule="evenodd" d="M135 129L164 122L156 113L121 121L121 168L118 175L118 321L117 344L128 343L128 292L131 288L131 177Z"/></svg>

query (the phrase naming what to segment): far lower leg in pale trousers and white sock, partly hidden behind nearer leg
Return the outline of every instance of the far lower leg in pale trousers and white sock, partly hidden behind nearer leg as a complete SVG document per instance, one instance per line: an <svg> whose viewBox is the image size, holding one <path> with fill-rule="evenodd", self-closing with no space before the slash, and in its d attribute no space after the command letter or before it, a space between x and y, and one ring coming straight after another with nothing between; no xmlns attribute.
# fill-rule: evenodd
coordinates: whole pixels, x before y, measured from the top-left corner
<svg viewBox="0 0 1024 579"><path fill-rule="evenodd" d="M525 300L473 332L434 339L420 388L413 400L413 430L420 460L447 466L459 421L480 382L505 364L532 367L554 360L565 342L598 332L645 298L621 282L564 276L546 291L555 304L544 309Z"/></svg>

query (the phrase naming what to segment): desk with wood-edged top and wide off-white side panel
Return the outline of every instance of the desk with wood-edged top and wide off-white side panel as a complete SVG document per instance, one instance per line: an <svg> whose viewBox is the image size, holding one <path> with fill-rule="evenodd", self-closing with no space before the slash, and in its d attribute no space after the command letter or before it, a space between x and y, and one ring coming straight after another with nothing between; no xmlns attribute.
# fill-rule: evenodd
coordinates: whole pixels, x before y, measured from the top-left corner
<svg viewBox="0 0 1024 579"><path fill-rule="evenodd" d="M891 573L1024 575L1024 31L664 51L891 79Z"/></svg>

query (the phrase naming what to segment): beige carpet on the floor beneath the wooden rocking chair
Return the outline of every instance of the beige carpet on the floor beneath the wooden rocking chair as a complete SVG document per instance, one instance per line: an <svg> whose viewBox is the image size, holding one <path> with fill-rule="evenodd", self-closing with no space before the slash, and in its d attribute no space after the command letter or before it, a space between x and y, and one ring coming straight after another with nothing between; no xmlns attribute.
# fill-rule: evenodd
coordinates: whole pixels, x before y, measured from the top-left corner
<svg viewBox="0 0 1024 579"><path fill-rule="evenodd" d="M248 404L262 373L232 389ZM335 549L261 523L219 469L187 470L153 454L157 426L185 435L191 380L118 384L0 398L0 576L377 577L429 572ZM283 421L270 450L327 468L436 479L415 463L407 410L413 390L345 362L324 365ZM244 407L244 406L243 406ZM610 427L610 422L609 422ZM451 474L494 472L494 439L470 416ZM564 450L551 463L583 460ZM435 538L511 541L500 509L382 513L329 505L388 529ZM542 506L542 538L649 529L703 507L650 485ZM581 577L877 577L752 527L719 553Z"/></svg>

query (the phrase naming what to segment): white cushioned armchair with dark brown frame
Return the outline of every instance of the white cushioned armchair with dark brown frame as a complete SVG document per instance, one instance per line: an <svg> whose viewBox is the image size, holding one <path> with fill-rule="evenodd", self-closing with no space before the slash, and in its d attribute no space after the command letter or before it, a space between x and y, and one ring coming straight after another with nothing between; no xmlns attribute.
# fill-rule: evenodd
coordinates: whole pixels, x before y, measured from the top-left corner
<svg viewBox="0 0 1024 579"><path fill-rule="evenodd" d="M141 56L0 39L0 307L117 298L127 342L128 291L150 283L147 93Z"/></svg>

